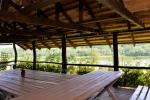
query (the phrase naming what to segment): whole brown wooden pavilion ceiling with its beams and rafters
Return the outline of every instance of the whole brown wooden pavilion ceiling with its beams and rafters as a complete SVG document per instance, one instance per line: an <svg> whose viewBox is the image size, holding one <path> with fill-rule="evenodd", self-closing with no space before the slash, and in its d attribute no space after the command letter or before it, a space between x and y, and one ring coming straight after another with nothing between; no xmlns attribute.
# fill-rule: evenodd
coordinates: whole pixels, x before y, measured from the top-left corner
<svg viewBox="0 0 150 100"><path fill-rule="evenodd" d="M1 0L0 42L24 49L150 42L149 0ZM59 2L60 1L60 2Z"/></svg>

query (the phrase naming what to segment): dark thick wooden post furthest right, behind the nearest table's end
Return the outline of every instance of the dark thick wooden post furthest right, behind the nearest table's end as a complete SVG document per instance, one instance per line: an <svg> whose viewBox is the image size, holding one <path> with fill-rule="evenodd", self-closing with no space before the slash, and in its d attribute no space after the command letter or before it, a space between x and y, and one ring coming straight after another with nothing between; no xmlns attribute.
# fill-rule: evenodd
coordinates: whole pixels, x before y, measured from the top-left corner
<svg viewBox="0 0 150 100"><path fill-rule="evenodd" d="M113 54L114 54L114 71L118 71L119 58L118 58L118 38L117 33L113 33Z"/></svg>

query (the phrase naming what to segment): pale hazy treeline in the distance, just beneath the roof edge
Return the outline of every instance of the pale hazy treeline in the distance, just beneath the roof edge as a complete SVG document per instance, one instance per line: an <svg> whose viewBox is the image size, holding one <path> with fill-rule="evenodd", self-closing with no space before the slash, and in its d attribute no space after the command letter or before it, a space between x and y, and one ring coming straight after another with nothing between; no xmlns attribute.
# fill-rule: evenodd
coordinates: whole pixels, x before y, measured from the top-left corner
<svg viewBox="0 0 150 100"><path fill-rule="evenodd" d="M25 57L32 59L32 50L24 51L20 47L17 47L18 57ZM10 46L9 48L1 48L1 52L8 53L9 58L14 57L13 48ZM61 49L54 48L54 49L37 49L37 55L39 59L43 59L41 57L45 57L44 60L50 59L59 61L61 60ZM112 56L113 55L113 46L109 47L108 45L100 45L100 46L93 46L93 47L77 47L77 48L67 48L67 57L73 58L74 56ZM123 56L150 56L150 44L125 44L119 45L119 55Z"/></svg>

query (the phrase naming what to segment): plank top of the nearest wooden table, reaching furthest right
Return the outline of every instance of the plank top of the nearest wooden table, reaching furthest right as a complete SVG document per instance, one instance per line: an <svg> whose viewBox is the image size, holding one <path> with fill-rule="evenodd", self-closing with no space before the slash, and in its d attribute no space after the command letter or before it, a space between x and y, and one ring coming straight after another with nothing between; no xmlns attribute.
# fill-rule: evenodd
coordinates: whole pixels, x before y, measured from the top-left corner
<svg viewBox="0 0 150 100"><path fill-rule="evenodd" d="M112 85L121 75L121 72L91 72L12 100L86 100L95 92Z"/></svg>

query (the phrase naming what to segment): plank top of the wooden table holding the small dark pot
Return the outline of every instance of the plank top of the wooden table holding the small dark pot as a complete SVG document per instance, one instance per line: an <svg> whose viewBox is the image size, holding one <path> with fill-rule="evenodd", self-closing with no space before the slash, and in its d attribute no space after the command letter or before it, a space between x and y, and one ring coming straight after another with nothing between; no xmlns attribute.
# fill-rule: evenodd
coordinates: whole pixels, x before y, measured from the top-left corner
<svg viewBox="0 0 150 100"><path fill-rule="evenodd" d="M0 89L14 96L20 96L47 87L53 87L63 81L76 77L76 75L69 76L26 69L25 78L22 78L20 69L15 69L0 72L0 77Z"/></svg>

